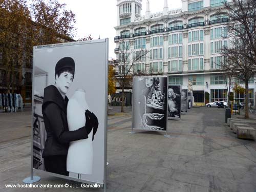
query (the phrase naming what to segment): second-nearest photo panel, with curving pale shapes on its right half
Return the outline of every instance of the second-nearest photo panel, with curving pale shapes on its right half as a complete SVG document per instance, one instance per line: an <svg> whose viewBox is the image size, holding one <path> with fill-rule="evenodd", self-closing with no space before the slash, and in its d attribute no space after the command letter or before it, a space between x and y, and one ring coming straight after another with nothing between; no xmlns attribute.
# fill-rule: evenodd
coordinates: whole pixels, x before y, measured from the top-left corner
<svg viewBox="0 0 256 192"><path fill-rule="evenodd" d="M167 77L133 78L133 129L166 131Z"/></svg>

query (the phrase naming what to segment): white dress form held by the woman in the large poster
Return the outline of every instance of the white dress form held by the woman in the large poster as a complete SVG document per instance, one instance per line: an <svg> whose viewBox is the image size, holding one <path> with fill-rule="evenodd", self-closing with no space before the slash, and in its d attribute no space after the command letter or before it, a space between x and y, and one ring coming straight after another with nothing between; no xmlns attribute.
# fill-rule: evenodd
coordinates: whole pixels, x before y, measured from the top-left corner
<svg viewBox="0 0 256 192"><path fill-rule="evenodd" d="M76 90L68 102L67 119L69 131L74 131L86 124L86 110L90 110L86 102L86 92ZM93 130L88 139L72 141L69 144L67 157L67 171L77 174L92 174L93 167Z"/></svg>

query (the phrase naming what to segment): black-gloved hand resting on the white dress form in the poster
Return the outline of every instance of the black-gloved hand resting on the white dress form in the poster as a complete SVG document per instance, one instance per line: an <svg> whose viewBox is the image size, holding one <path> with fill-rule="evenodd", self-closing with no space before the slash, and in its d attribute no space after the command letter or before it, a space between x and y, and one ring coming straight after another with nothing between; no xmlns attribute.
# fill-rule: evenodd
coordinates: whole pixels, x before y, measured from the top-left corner
<svg viewBox="0 0 256 192"><path fill-rule="evenodd" d="M94 113L90 112L89 110L86 110L86 131L87 134L89 135L93 129L93 139L94 139L94 135L97 132L98 129L98 118L94 115Z"/></svg>

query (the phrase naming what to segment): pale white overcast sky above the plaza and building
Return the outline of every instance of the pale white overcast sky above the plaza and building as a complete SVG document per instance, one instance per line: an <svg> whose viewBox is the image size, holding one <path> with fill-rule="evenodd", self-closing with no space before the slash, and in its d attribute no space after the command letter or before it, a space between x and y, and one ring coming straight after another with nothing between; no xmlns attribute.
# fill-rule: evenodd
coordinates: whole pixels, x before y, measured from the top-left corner
<svg viewBox="0 0 256 192"><path fill-rule="evenodd" d="M66 9L76 15L77 36L75 39L91 34L93 39L109 38L109 58L115 58L114 37L117 25L116 0L59 0L66 3ZM151 13L163 11L164 0L150 0ZM169 9L181 8L181 0L168 0ZM146 0L142 0L142 15L145 15Z"/></svg>

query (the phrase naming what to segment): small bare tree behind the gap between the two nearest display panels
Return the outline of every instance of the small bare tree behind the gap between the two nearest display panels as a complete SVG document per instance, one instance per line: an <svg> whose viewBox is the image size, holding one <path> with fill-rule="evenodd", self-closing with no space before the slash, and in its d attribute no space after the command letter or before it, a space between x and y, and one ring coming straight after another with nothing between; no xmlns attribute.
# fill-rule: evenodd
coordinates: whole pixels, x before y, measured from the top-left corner
<svg viewBox="0 0 256 192"><path fill-rule="evenodd" d="M141 48L139 51L131 49L129 41L121 40L119 42L119 73L116 81L119 83L119 86L122 89L121 112L124 112L124 88L131 85L132 77L133 75L136 75L136 73L133 74L131 70L134 68L135 63L145 62L148 52L149 51L144 48ZM138 73L141 74L141 72Z"/></svg>

